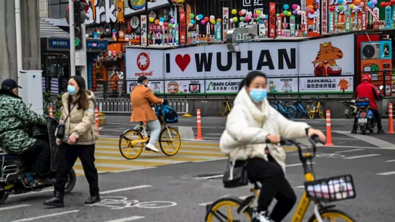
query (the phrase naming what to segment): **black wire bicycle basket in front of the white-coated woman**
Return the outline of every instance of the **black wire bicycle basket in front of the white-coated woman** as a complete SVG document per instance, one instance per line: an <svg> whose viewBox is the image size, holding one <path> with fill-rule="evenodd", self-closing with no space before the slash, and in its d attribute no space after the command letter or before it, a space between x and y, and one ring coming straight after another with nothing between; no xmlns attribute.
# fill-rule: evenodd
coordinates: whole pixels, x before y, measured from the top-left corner
<svg viewBox="0 0 395 222"><path fill-rule="evenodd" d="M341 175L305 182L305 191L310 200L333 202L355 198L354 181L351 175Z"/></svg>

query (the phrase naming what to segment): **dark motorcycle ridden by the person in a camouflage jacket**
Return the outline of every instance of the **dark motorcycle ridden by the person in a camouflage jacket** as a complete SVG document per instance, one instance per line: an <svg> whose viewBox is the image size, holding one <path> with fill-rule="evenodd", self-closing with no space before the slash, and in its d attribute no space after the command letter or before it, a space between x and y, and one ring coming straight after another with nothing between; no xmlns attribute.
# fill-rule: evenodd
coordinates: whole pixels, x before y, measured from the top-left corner
<svg viewBox="0 0 395 222"><path fill-rule="evenodd" d="M47 127L26 125L25 130L29 136L49 143L51 147L49 177L56 178L59 146L56 145L55 130L58 120L49 117L46 119ZM25 165L25 162L27 161L24 161L20 155L11 155L4 148L0 147L0 205L7 200L9 194L36 192L53 186L36 183L34 173L31 172L29 166L26 166L27 164ZM76 179L77 177L72 169L68 175L65 193L70 193L73 190Z"/></svg>

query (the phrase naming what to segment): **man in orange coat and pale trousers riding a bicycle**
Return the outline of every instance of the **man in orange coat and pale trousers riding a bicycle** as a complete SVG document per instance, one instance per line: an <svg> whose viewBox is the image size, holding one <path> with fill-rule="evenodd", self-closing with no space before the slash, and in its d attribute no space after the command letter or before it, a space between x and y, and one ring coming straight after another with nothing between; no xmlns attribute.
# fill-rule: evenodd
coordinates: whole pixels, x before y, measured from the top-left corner
<svg viewBox="0 0 395 222"><path fill-rule="evenodd" d="M147 124L147 128L151 129L150 140L145 148L159 152L155 147L155 142L160 134L160 122L155 112L151 108L151 103L162 104L163 99L156 97L149 88L148 78L140 76L137 79L137 86L130 93L130 101L132 102L131 122L143 122Z"/></svg>

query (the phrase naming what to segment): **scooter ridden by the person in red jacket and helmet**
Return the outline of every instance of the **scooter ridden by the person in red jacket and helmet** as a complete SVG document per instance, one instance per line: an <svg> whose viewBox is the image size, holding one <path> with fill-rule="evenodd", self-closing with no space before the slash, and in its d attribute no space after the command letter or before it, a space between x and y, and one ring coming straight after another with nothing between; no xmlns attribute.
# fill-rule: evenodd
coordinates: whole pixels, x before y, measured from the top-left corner
<svg viewBox="0 0 395 222"><path fill-rule="evenodd" d="M380 91L384 88L384 86L380 86ZM379 99L383 99L384 95L379 95ZM362 135L366 135L367 130L369 132L374 131L374 127L376 126L376 119L374 118L374 114L369 107L369 99L366 97L360 97L355 99L355 105L358 108L357 111L357 123L359 125L359 129L361 129Z"/></svg>

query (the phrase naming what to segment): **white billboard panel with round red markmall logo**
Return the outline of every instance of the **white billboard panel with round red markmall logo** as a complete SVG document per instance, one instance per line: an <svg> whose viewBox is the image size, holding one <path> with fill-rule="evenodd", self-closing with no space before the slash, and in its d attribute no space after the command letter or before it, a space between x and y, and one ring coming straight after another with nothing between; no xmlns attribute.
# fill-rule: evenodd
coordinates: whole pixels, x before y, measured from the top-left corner
<svg viewBox="0 0 395 222"><path fill-rule="evenodd" d="M139 76L163 79L163 51L149 49L126 49L126 80Z"/></svg>

